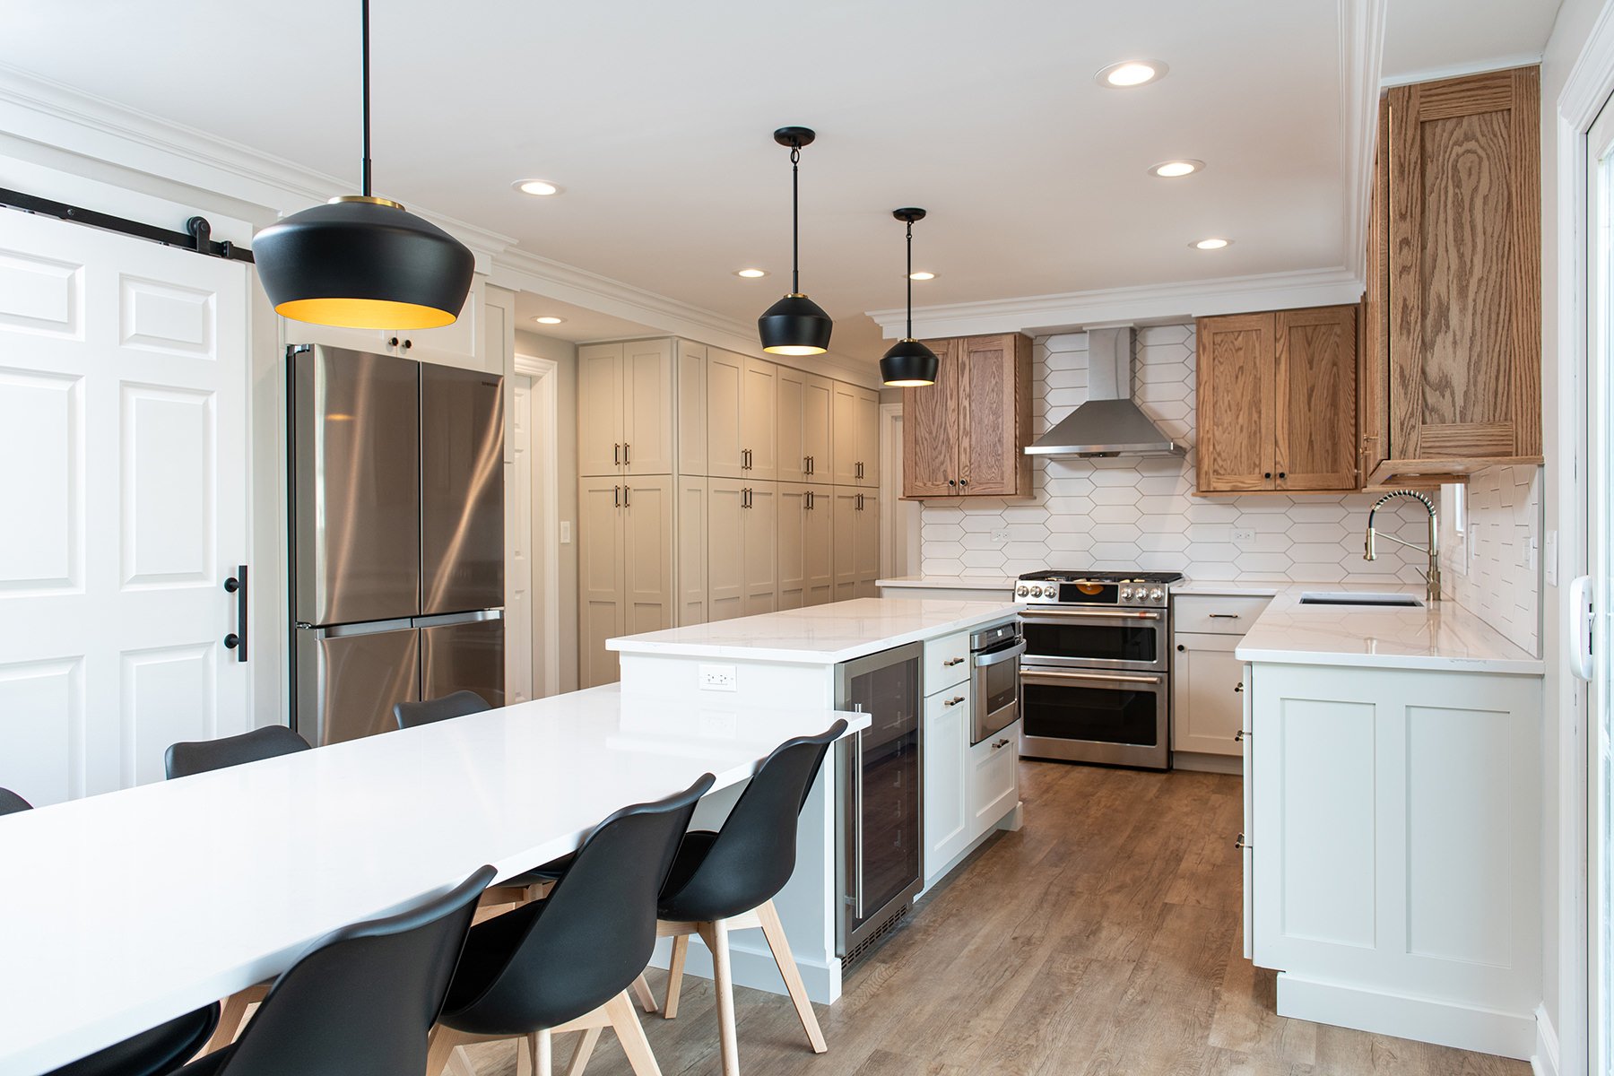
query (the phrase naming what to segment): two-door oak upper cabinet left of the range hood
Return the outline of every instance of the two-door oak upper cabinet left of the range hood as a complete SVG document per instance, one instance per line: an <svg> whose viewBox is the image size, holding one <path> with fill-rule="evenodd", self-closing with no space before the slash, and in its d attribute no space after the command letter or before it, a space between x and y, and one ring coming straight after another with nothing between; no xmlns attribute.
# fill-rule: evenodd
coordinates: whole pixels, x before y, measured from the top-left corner
<svg viewBox="0 0 1614 1076"><path fill-rule="evenodd" d="M1030 495L1031 339L925 344L939 365L936 384L902 390L902 495Z"/></svg>

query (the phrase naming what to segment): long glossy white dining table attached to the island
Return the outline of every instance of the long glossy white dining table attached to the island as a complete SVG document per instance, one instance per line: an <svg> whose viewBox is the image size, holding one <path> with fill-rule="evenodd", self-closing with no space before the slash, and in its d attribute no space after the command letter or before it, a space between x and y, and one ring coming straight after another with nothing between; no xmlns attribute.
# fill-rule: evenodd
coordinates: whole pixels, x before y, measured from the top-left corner
<svg viewBox="0 0 1614 1076"><path fill-rule="evenodd" d="M337 926L605 815L736 786L822 708L615 686L0 818L0 1076L36 1076L284 971Z"/></svg>

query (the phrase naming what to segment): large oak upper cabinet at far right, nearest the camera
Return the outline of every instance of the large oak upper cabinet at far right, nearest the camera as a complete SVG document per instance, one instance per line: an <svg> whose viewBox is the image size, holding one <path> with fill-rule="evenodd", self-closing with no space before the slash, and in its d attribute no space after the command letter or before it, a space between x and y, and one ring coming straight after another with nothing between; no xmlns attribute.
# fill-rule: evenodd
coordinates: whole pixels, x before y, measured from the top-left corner
<svg viewBox="0 0 1614 1076"><path fill-rule="evenodd" d="M1369 482L1541 458L1540 68L1393 87L1380 123L1388 357ZM1365 431L1372 437L1377 431Z"/></svg>

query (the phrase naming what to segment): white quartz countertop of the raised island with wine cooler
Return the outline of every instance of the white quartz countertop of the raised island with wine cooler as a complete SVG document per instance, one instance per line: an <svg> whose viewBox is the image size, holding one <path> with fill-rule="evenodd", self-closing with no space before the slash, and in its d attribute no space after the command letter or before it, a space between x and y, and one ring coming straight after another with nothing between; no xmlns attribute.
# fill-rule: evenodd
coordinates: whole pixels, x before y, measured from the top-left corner
<svg viewBox="0 0 1614 1076"><path fill-rule="evenodd" d="M1020 607L1012 602L854 598L625 636L608 639L605 647L623 655L839 665L907 642L1012 619L1018 613Z"/></svg>

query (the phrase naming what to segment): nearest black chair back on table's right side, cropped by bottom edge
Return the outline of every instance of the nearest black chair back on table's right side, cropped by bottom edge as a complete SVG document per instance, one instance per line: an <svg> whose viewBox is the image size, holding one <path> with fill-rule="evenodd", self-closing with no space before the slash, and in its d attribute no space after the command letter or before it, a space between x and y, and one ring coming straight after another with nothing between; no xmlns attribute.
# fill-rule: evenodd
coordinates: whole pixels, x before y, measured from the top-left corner
<svg viewBox="0 0 1614 1076"><path fill-rule="evenodd" d="M491 866L410 911L331 931L270 987L234 1044L181 1076L400 1076L426 1068Z"/></svg>

